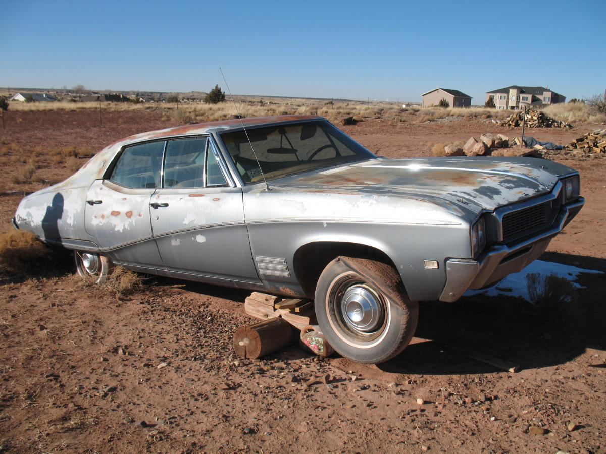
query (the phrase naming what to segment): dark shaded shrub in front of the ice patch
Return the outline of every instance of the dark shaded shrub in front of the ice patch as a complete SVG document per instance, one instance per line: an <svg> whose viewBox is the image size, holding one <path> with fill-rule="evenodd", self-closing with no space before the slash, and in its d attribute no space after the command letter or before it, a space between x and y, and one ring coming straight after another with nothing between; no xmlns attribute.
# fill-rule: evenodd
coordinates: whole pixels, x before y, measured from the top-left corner
<svg viewBox="0 0 606 454"><path fill-rule="evenodd" d="M528 297L536 308L544 311L578 311L574 285L563 277L531 273L526 276Z"/></svg>

